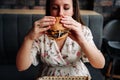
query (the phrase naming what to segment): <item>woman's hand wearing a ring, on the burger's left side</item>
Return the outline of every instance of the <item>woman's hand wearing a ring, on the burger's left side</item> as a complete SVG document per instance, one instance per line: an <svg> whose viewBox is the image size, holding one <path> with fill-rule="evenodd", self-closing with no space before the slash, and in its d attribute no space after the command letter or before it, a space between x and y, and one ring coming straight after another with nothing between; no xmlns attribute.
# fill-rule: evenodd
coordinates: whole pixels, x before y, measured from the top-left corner
<svg viewBox="0 0 120 80"><path fill-rule="evenodd" d="M34 22L34 26L31 28L26 38L30 40L38 39L45 31L50 29L51 25L55 24L55 17L44 16L42 19Z"/></svg>

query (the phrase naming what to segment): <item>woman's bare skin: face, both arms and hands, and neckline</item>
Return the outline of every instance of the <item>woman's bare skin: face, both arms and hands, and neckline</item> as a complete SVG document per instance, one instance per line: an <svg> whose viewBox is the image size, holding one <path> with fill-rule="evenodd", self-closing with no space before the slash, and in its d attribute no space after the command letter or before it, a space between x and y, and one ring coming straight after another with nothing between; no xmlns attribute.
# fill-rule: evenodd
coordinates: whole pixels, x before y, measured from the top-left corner
<svg viewBox="0 0 120 80"><path fill-rule="evenodd" d="M30 67L32 63L30 59L30 50L33 41L45 34L45 31L50 29L51 26L55 24L56 16L61 17L61 23L63 26L71 30L69 37L81 46L82 51L88 57L91 65L95 68L103 68L105 65L105 59L102 53L96 48L95 45L91 45L86 41L82 33L82 24L72 18L72 15L74 14L72 0L52 0L50 5L51 16L44 16L42 19L36 21L30 32L24 38L16 58L18 70L23 71ZM62 49L65 40L66 39L56 40L60 50Z"/></svg>

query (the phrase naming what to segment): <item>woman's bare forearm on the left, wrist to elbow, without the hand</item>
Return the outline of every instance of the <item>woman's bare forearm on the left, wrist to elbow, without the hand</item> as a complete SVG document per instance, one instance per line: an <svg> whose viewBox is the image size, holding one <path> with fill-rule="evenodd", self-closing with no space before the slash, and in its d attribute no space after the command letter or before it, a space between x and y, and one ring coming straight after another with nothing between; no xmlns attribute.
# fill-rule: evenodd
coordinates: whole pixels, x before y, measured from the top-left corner
<svg viewBox="0 0 120 80"><path fill-rule="evenodd" d="M19 71L26 70L31 65L30 50L32 47L32 40L24 39L16 57L16 66Z"/></svg>

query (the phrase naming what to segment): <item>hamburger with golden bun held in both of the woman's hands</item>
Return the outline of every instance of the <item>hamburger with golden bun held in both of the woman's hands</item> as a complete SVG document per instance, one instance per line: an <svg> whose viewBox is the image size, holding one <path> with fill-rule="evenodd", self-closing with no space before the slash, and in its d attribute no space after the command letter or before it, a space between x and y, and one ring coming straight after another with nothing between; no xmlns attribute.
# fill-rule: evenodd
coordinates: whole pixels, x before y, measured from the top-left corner
<svg viewBox="0 0 120 80"><path fill-rule="evenodd" d="M68 36L69 29L63 27L63 25L60 23L61 17L55 17L56 22L54 25L51 26L51 28L47 31L48 36L52 39L63 39L66 36Z"/></svg>

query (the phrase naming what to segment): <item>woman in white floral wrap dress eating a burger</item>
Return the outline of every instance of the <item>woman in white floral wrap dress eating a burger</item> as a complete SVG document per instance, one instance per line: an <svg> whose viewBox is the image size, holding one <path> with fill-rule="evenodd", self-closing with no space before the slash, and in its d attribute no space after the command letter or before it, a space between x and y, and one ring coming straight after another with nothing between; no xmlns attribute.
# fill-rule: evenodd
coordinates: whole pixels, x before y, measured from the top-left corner
<svg viewBox="0 0 120 80"><path fill-rule="evenodd" d="M47 0L46 16L35 22L18 51L19 71L42 61L39 76L90 77L83 62L90 62L95 68L104 67L104 57L93 42L90 29L82 23L78 6L78 0ZM64 38L50 39L46 34L55 24L55 17L61 17L60 23L70 30Z"/></svg>

